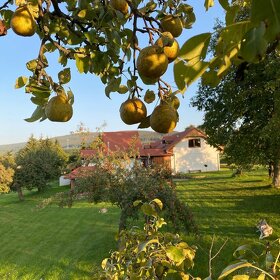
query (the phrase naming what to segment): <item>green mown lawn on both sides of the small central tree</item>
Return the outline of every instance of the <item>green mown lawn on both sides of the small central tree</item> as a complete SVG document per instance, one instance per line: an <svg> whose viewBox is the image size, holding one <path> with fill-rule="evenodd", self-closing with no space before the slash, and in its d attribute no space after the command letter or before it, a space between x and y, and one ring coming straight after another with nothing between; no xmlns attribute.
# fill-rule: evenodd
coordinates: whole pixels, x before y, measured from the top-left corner
<svg viewBox="0 0 280 280"><path fill-rule="evenodd" d="M274 228L268 240L280 236L280 190L270 187L266 172L231 174L197 173L176 182L199 228L198 236L184 234L198 247L193 275L208 276L213 237L213 254L227 240L213 261L215 279L238 245L258 240L259 219ZM81 201L72 208L37 208L42 199L64 189L54 186L43 195L26 192L24 202L14 193L0 196L0 279L96 279L101 260L116 247L119 210ZM100 213L102 207L108 212Z"/></svg>

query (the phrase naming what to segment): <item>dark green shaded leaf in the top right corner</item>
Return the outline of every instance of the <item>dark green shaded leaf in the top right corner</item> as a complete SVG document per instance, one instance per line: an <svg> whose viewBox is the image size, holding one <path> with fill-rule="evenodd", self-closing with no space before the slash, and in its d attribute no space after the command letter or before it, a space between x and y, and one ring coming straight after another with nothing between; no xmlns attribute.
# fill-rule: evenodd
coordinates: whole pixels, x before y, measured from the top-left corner
<svg viewBox="0 0 280 280"><path fill-rule="evenodd" d="M265 22L265 37L273 41L280 35L280 1L252 0L251 21L256 25Z"/></svg>

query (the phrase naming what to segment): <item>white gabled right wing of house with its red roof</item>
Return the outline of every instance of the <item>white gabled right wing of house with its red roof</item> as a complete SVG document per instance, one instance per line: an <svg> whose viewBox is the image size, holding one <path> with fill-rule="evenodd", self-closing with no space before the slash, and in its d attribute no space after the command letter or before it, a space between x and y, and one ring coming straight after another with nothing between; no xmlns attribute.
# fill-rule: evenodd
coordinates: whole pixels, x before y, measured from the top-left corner
<svg viewBox="0 0 280 280"><path fill-rule="evenodd" d="M141 157L145 165L163 164L173 173L220 170L219 151L207 143L203 131L193 126L144 145Z"/></svg>

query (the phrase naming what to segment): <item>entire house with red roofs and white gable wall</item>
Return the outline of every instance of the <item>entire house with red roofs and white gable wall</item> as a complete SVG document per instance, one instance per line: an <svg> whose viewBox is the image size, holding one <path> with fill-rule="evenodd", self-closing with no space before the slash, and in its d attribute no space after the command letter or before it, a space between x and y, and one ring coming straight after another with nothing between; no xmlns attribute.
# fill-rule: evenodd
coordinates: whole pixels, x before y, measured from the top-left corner
<svg viewBox="0 0 280 280"><path fill-rule="evenodd" d="M134 151L128 168L134 164L135 155L144 166L164 165L172 173L189 173L220 170L219 151L207 143L207 135L191 126L183 132L163 136L161 140L142 144L138 131L104 132L100 135L103 154ZM84 166L73 170L66 177L73 181L85 174L98 149L82 149ZM88 170L87 170L88 171Z"/></svg>

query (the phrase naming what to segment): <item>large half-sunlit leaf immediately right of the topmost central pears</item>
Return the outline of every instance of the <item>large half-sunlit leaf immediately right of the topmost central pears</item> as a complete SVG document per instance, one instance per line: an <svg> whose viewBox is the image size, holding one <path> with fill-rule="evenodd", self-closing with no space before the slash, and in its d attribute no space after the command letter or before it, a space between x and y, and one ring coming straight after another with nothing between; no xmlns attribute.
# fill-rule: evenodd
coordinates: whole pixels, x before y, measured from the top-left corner
<svg viewBox="0 0 280 280"><path fill-rule="evenodd" d="M186 60L204 59L210 43L211 33L202 33L190 38L179 51L179 57Z"/></svg>

